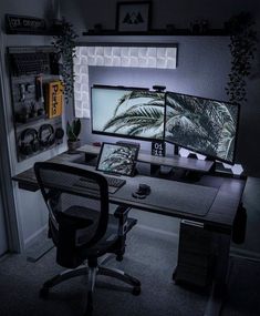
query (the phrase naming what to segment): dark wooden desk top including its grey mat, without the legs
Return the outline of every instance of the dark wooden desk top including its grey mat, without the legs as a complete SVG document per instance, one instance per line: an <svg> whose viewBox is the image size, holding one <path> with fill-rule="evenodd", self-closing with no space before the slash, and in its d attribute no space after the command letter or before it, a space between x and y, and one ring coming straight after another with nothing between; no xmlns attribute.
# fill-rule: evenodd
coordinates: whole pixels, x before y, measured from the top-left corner
<svg viewBox="0 0 260 316"><path fill-rule="evenodd" d="M93 166L74 163L73 161L79 157L80 154L71 155L63 153L51 159L50 161L77 165L87 170L94 170ZM198 221L200 223L204 223L205 227L208 230L228 234L230 234L232 230L233 220L238 206L241 202L241 196L246 185L246 181L241 179L207 174L202 175L201 179L196 183L183 183L145 175L137 175L134 177L125 179L126 184L116 193L110 195L111 203L123 204L132 206L134 208L139 208L146 212L158 213L167 216ZM20 188L30 191L37 191L39 188L32 169L13 176L13 180L19 182ZM132 196L132 192L137 188L139 183L146 183L152 188L150 195L144 200L135 198ZM200 192L200 194L194 194L191 197L190 192L193 191L193 187L197 190L195 192ZM199 190L199 187L201 190ZM183 190L185 207L190 207L190 211L188 210L189 212L180 212L178 207L175 206L177 210L173 207L173 205L176 205L178 202L174 200L176 188ZM207 190L210 192L210 194L212 194L212 198L211 202L208 202L210 205L208 204L209 210L206 212L206 215L201 215L201 212L196 213L196 210L193 211L191 208L193 206L194 208L198 207L199 203L202 201L201 194L207 194ZM170 194L170 192L173 192L173 194ZM185 192L187 192L187 195ZM176 203L170 203L170 196L173 196L173 201ZM179 198L179 195L176 196L176 200L177 197Z"/></svg>

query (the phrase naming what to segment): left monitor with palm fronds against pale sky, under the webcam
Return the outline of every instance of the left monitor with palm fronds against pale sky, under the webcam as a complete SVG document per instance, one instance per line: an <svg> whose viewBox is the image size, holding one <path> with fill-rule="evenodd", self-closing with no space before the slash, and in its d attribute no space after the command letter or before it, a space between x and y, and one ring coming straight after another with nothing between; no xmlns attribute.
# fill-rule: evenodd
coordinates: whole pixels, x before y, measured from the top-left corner
<svg viewBox="0 0 260 316"><path fill-rule="evenodd" d="M164 92L147 89L92 86L92 132L138 140L162 140L164 96Z"/></svg>

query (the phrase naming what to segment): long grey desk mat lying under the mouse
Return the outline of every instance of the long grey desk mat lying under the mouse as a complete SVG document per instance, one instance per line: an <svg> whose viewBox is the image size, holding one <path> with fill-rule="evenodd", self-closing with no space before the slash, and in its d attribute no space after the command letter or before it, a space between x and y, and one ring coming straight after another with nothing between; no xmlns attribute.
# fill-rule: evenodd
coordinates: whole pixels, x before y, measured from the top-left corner
<svg viewBox="0 0 260 316"><path fill-rule="evenodd" d="M132 196L141 183L150 186L150 194L144 200ZM180 212L205 216L210 210L218 188L137 175L128 179L126 185L118 190L114 196L138 203L147 208L164 210L166 212Z"/></svg>

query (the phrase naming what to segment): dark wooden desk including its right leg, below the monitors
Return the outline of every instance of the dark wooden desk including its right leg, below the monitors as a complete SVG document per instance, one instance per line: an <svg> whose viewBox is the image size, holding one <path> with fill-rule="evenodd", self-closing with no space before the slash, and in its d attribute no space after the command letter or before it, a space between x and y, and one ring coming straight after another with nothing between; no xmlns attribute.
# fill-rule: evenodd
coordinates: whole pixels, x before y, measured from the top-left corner
<svg viewBox="0 0 260 316"><path fill-rule="evenodd" d="M80 153L79 155L64 153L50 161L79 166L74 161L80 156ZM94 170L94 166L86 164L81 164L80 166L86 170ZM116 193L110 194L111 203L199 222L204 225L205 230L218 233L220 252L216 265L215 287L205 314L218 315L221 307L219 288L222 289L226 282L232 224L241 202L246 181L208 174L202 175L196 183L181 183L147 175L136 175L134 177L124 179L126 180L126 184ZM21 188L38 190L32 170L14 176L13 180L19 182ZM150 185L150 196L145 200L136 200L132 196L132 192L137 188L139 183ZM187 194L185 194L185 192ZM207 192L211 196L209 200L207 200L208 196L206 196ZM204 200L207 200L204 206L207 207L207 212L201 214L201 212L196 212L196 207L200 205ZM179 208L180 206L183 208Z"/></svg>

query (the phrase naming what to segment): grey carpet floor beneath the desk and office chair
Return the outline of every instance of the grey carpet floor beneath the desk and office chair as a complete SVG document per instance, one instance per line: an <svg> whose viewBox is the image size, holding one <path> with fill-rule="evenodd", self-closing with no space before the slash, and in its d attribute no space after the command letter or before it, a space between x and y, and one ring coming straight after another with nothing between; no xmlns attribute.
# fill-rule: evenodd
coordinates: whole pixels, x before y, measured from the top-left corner
<svg viewBox="0 0 260 316"><path fill-rule="evenodd" d="M177 238L135 227L129 234L126 255L122 263L114 259L111 266L124 269L142 281L142 294L133 296L126 290L107 289L105 277L100 278L94 294L93 316L199 316L204 315L207 292L188 290L171 281L177 257ZM231 293L223 307L223 315L260 315L260 275L256 263L233 262L230 275ZM253 267L253 268L252 268ZM85 296L83 278L65 282L50 293L49 299L39 298L44 281L62 268L55 265L52 249L37 263L25 255L12 255L0 262L0 315L1 316L77 316L82 315ZM253 269L258 274L253 273ZM254 277L256 284L247 284L245 274ZM239 277L238 277L239 276ZM239 287L242 283L242 292ZM112 283L113 279L108 279ZM124 288L126 289L126 287ZM247 290L248 289L248 290ZM239 295L239 299L237 299ZM243 302L242 302L243 300ZM249 303L249 306L248 306ZM254 307L250 307L253 306ZM256 314L258 313L258 314Z"/></svg>

